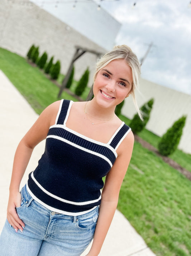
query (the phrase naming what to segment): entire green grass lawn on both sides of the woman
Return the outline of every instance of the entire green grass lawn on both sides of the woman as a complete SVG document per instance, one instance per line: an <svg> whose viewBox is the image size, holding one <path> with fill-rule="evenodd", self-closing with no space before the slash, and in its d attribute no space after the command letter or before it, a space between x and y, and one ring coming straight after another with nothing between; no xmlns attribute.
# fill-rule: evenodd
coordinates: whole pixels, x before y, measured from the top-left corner
<svg viewBox="0 0 191 256"><path fill-rule="evenodd" d="M24 58L0 48L0 69L37 113L57 100L58 88ZM66 93L62 98L76 100ZM158 136L147 130L139 135L155 146L158 143ZM190 161L190 155L181 151L175 158L183 165ZM191 255L190 202L191 181L135 142L118 209L157 256Z"/></svg>

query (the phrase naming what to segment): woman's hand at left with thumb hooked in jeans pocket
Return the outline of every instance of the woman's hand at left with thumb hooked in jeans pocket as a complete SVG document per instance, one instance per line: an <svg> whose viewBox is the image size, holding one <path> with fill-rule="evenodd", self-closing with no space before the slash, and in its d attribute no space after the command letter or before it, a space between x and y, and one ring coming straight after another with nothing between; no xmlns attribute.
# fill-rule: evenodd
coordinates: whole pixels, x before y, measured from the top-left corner
<svg viewBox="0 0 191 256"><path fill-rule="evenodd" d="M7 220L9 221L9 224L13 226L15 231L17 232L18 229L20 231L23 231L24 222L19 219L19 216L16 212L16 207L20 207L21 204L21 194L20 192L16 192L13 194L10 194L9 196L9 202L7 207Z"/></svg>

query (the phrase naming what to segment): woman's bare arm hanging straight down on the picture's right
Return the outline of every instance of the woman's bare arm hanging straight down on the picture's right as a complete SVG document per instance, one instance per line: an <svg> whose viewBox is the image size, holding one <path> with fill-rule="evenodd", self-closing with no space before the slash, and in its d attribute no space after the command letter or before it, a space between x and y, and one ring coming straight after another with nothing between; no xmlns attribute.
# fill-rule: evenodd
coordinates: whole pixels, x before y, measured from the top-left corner
<svg viewBox="0 0 191 256"><path fill-rule="evenodd" d="M119 191L132 156L133 143L134 136L130 132L119 146L117 150L118 157L106 176L94 241L87 256L97 256L100 253L118 204Z"/></svg>

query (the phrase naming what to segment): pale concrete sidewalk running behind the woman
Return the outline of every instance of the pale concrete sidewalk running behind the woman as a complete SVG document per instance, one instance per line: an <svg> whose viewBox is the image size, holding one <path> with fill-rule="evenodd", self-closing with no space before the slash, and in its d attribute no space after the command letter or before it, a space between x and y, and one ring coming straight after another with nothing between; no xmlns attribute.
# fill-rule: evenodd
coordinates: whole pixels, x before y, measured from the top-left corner
<svg viewBox="0 0 191 256"><path fill-rule="evenodd" d="M13 158L20 139L32 126L38 115L30 107L23 96L15 89L8 78L0 70L0 155L1 155L1 186L0 186L0 232L6 219L6 207L9 196L9 183ZM44 152L45 143L35 147L21 186L28 178L30 171L37 166ZM88 250L88 249L87 249ZM87 251L86 251L87 252ZM84 252L82 256L86 255ZM108 235L105 239L100 256L154 256L144 240L130 225L129 221L116 210Z"/></svg>

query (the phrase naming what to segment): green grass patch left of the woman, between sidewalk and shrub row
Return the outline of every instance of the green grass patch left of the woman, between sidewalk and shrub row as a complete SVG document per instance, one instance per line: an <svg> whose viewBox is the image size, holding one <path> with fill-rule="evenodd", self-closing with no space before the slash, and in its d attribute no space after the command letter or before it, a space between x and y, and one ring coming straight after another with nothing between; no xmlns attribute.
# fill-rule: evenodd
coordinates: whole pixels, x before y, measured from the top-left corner
<svg viewBox="0 0 191 256"><path fill-rule="evenodd" d="M58 100L59 88L38 67L30 66L25 58L0 48L0 69L38 114ZM65 92L61 98L76 101L76 98Z"/></svg>

